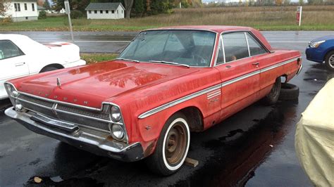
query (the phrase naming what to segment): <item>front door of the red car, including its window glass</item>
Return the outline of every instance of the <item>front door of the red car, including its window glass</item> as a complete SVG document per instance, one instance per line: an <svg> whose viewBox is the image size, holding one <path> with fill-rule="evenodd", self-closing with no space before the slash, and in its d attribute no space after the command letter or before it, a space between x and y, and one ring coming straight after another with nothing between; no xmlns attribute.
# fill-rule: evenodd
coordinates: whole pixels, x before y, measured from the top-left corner
<svg viewBox="0 0 334 187"><path fill-rule="evenodd" d="M216 68L221 73L222 120L258 99L259 62L250 57L245 32L221 35Z"/></svg>

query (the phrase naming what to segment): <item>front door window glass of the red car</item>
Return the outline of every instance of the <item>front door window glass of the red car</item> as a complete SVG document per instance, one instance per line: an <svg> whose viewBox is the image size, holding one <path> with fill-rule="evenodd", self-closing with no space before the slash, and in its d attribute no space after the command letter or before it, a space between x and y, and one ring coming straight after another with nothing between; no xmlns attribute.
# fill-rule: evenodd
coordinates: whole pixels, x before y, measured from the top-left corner
<svg viewBox="0 0 334 187"><path fill-rule="evenodd" d="M244 32L223 34L223 45L226 63L249 57L247 41Z"/></svg>

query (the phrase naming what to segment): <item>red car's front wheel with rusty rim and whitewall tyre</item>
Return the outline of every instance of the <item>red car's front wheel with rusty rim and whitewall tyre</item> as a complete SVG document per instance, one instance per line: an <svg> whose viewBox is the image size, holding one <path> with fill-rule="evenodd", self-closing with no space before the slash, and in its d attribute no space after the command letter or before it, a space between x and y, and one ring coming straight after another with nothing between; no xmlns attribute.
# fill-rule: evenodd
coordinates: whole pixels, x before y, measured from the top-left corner
<svg viewBox="0 0 334 187"><path fill-rule="evenodd" d="M163 176L178 172L185 162L190 145L190 129L182 113L170 117L163 127L156 150L147 158L147 167Z"/></svg>

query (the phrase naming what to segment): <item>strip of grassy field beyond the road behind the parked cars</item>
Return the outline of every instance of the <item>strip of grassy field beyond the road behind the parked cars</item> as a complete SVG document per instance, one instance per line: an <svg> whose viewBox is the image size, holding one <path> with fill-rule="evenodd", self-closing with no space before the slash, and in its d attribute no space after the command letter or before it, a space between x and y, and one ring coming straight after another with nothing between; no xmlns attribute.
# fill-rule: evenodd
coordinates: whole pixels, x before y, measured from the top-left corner
<svg viewBox="0 0 334 187"><path fill-rule="evenodd" d="M302 27L296 6L174 9L171 14L122 20L73 20L75 31L139 31L171 25L242 25L259 30L334 30L334 6L303 6ZM67 17L30 22L0 21L0 31L68 31Z"/></svg>

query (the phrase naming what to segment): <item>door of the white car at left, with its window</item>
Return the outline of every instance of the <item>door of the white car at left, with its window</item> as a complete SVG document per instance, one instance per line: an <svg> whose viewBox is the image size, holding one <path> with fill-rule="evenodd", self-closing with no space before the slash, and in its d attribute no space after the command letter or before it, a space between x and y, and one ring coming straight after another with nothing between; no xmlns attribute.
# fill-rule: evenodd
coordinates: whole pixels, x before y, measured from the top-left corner
<svg viewBox="0 0 334 187"><path fill-rule="evenodd" d="M0 40L0 98L6 98L4 82L29 75L25 54L11 40Z"/></svg>

